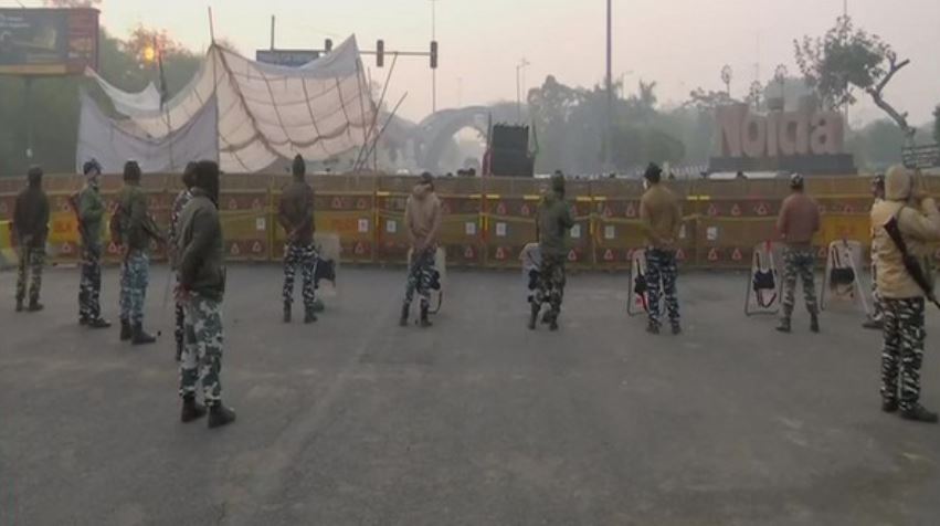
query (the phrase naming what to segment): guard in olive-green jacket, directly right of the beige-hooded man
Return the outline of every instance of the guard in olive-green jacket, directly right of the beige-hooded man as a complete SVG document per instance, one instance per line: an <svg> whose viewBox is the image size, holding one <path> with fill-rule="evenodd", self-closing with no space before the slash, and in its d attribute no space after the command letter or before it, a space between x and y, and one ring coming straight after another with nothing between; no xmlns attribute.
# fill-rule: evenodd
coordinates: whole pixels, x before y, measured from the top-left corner
<svg viewBox="0 0 940 526"><path fill-rule="evenodd" d="M568 260L568 233L574 227L571 208L564 201L564 175L556 171L551 177L551 189L542 198L536 212L536 231L541 252L539 283L531 303L529 328L535 329L542 305L549 311L545 320L551 330L558 330L561 301L564 297L564 262Z"/></svg>

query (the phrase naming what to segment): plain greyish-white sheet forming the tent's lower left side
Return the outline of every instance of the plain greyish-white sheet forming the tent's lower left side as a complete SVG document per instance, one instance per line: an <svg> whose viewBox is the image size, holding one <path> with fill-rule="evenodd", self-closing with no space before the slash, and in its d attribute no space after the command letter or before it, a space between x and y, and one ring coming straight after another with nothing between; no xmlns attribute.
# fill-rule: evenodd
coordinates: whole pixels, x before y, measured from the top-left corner
<svg viewBox="0 0 940 526"><path fill-rule="evenodd" d="M97 159L105 173L120 173L128 159L137 160L145 173L181 171L191 160L218 160L215 104L203 106L186 126L171 135L155 139L135 130L130 122L108 118L84 91L80 96L78 171L88 159Z"/></svg>

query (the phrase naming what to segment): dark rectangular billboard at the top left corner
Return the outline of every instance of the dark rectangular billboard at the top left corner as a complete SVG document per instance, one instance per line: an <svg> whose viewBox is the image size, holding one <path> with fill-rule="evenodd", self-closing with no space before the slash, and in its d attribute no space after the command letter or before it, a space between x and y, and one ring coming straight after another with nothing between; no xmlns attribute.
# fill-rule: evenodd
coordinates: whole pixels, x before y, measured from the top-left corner
<svg viewBox="0 0 940 526"><path fill-rule="evenodd" d="M80 75L97 65L97 9L0 9L0 74Z"/></svg>

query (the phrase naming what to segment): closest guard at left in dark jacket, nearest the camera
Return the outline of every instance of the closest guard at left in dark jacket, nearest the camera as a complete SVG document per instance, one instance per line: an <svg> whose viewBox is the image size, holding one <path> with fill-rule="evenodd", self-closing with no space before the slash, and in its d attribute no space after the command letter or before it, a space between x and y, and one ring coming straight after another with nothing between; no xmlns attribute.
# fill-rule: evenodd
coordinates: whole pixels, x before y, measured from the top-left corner
<svg viewBox="0 0 940 526"><path fill-rule="evenodd" d="M177 238L177 297L186 308L186 347L180 360L180 419L191 422L205 414L209 427L235 420L222 404L222 296L225 267L222 223L219 220L219 165L203 160L196 166L192 200L183 208ZM205 406L196 401L202 383Z"/></svg>

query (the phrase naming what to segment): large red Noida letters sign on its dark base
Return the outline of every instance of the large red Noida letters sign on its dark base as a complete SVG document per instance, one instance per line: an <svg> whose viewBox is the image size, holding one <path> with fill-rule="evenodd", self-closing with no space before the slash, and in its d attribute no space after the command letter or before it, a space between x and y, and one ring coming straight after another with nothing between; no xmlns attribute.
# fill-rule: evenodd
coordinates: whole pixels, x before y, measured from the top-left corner
<svg viewBox="0 0 940 526"><path fill-rule="evenodd" d="M855 173L845 152L845 120L836 112L751 113L743 104L716 111L718 157L709 171Z"/></svg>

